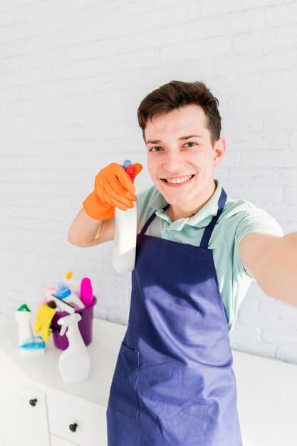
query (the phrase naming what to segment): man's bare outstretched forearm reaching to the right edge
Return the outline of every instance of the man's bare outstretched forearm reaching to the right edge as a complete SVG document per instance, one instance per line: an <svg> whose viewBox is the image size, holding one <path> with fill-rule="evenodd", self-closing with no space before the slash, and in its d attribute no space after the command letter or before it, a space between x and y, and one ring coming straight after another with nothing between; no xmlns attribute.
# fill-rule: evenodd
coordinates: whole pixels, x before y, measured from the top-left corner
<svg viewBox="0 0 297 446"><path fill-rule="evenodd" d="M280 237L256 264L254 272L266 294L297 306L297 232Z"/></svg>

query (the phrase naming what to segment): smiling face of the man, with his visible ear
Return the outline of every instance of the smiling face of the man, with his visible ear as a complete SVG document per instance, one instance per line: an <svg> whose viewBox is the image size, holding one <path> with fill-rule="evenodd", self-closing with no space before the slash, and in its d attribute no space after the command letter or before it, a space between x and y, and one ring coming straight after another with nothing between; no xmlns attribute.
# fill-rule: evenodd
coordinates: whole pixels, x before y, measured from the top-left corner
<svg viewBox="0 0 297 446"><path fill-rule="evenodd" d="M147 121L147 167L157 190L170 203L170 217L189 217L215 190L214 167L226 142L211 142L207 118L199 105L186 105Z"/></svg>

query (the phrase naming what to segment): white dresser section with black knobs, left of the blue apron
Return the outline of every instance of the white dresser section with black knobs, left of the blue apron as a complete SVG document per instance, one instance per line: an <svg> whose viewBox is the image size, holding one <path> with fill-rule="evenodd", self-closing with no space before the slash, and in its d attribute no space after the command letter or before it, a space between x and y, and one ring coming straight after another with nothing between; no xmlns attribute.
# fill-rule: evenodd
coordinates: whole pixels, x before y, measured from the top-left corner
<svg viewBox="0 0 297 446"><path fill-rule="evenodd" d="M108 395L126 329L94 319L90 378L66 385L58 373L62 351L52 337L43 356L21 356L12 321L8 333L0 333L0 444L106 446Z"/></svg>

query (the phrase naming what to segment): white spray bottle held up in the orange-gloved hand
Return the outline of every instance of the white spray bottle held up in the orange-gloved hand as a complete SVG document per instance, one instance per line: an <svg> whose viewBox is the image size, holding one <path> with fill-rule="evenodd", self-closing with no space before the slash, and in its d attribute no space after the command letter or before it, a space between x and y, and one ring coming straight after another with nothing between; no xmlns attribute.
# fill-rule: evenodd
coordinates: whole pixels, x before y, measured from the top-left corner
<svg viewBox="0 0 297 446"><path fill-rule="evenodd" d="M125 160L123 168L131 180L134 180L134 166ZM132 271L135 266L137 237L137 207L126 211L115 207L115 239L113 245L113 267L118 272Z"/></svg>

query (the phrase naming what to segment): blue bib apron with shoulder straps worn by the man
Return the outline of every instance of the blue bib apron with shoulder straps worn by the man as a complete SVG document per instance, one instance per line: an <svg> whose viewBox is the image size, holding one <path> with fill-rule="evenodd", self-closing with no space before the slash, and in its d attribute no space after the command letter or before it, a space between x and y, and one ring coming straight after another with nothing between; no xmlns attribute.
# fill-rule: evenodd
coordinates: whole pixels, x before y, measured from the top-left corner
<svg viewBox="0 0 297 446"><path fill-rule="evenodd" d="M242 446L226 311L212 251L137 236L129 323L108 401L108 446ZM166 209L166 208L165 208Z"/></svg>

